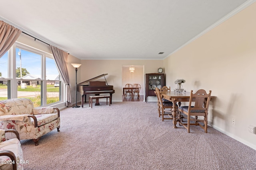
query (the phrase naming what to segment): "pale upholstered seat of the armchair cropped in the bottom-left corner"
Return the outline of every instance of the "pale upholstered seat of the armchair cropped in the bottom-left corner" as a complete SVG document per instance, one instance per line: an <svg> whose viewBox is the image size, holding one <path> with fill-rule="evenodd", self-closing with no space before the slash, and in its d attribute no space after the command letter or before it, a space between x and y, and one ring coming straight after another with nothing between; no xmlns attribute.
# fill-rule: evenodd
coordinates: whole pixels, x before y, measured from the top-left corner
<svg viewBox="0 0 256 170"><path fill-rule="evenodd" d="M23 152L20 146L20 141L17 138L14 139L10 139L4 142L0 143L0 150L9 150L11 152L13 152L15 154L16 157L16 161L20 162L23 161ZM0 156L0 160L4 160L4 161L11 161L9 156ZM12 164L0 164L0 169L4 169L4 170L8 170L11 169L12 170ZM17 164L17 169L23 169L23 164Z"/></svg>

